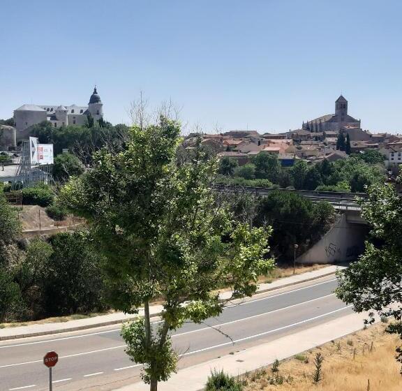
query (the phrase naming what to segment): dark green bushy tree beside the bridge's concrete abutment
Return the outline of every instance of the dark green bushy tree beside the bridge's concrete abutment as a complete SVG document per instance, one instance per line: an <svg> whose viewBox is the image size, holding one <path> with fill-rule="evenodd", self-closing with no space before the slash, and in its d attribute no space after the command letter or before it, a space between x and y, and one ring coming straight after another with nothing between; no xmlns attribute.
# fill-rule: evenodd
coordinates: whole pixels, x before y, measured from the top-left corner
<svg viewBox="0 0 402 391"><path fill-rule="evenodd" d="M334 208L328 202L314 204L297 193L273 191L261 200L255 223L274 228L270 244L278 256L289 259L293 244L299 244L299 251L313 245L329 230L334 218Z"/></svg>

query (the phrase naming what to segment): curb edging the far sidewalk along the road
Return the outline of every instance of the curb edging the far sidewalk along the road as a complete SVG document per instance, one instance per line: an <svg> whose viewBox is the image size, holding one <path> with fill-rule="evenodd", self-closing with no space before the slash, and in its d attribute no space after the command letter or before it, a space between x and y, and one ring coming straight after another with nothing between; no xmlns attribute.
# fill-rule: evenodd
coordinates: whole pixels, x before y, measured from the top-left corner
<svg viewBox="0 0 402 391"><path fill-rule="evenodd" d="M271 290L278 290L278 289L282 289L282 288L287 288L289 286L295 286L295 285L297 285L299 283L305 283L305 282L308 282L308 281L314 281L314 280L317 280L317 279L322 279L322 278L327 277L327 276L332 276L335 273L336 273L336 271L335 272L329 272L329 273L326 273L326 274L321 274L320 276L314 276L314 277L311 277L309 279L304 279L304 280L300 280L300 281L286 283L285 285L282 285L282 286L274 286L274 287L271 287L271 288L265 288L265 289L262 289L262 290L258 290L255 294L266 293L266 292L270 292ZM160 315L161 315L161 312L158 312L158 313L151 314L150 317L155 318L155 317L160 316ZM64 333L64 332L74 332L74 331L80 331L80 330L89 330L89 329L93 329L93 328L96 328L96 327L105 327L105 326L110 326L110 325L117 325L119 323L128 322L129 320L134 320L138 316L139 315L131 316L130 318L126 318L126 319L108 320L107 322L96 323L94 325L82 325L82 326L69 327L69 328L66 328L66 329L59 329L59 330L31 332L30 334L8 335L6 337L1 337L0 336L0 341L9 341L11 339L21 339L21 338L30 338L30 337L42 337L43 335L61 334L61 333Z"/></svg>

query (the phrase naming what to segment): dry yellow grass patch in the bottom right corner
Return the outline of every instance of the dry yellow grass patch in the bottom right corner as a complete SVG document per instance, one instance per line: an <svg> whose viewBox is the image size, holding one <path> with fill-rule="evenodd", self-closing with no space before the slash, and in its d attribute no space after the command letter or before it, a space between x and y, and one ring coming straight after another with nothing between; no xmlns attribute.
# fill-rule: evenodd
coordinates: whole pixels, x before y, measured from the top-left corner
<svg viewBox="0 0 402 391"><path fill-rule="evenodd" d="M395 360L395 348L400 340L384 330L385 325L380 323L307 351L303 353L304 361L292 357L281 362L278 371L283 376L281 385L269 384L273 376L271 369L247 374L244 390L401 391L401 367ZM323 379L318 384L312 380L316 353L324 356Z"/></svg>

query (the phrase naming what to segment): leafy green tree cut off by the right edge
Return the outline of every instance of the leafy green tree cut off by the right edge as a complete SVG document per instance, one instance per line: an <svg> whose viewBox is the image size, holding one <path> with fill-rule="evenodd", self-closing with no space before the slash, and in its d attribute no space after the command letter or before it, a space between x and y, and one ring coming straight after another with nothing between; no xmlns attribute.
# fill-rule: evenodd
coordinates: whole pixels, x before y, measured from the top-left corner
<svg viewBox="0 0 402 391"><path fill-rule="evenodd" d="M395 319L387 327L402 339L402 202L393 186L374 184L368 198L360 200L362 217L371 227L364 254L348 269L338 272L336 295L355 311L370 311L367 323L373 323L374 311ZM402 347L396 349L402 362Z"/></svg>

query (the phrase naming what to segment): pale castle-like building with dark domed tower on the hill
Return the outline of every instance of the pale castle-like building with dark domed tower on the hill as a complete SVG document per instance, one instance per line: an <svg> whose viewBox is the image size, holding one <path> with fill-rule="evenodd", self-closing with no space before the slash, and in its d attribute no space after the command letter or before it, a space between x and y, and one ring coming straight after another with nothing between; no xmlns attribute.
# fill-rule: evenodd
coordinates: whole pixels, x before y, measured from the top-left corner
<svg viewBox="0 0 402 391"><path fill-rule="evenodd" d="M17 131L24 131L42 121L50 121L54 128L64 125L84 125L87 124L89 115L95 121L103 117L103 103L96 87L87 106L22 105L14 110Z"/></svg>

